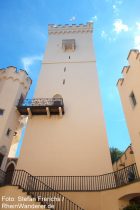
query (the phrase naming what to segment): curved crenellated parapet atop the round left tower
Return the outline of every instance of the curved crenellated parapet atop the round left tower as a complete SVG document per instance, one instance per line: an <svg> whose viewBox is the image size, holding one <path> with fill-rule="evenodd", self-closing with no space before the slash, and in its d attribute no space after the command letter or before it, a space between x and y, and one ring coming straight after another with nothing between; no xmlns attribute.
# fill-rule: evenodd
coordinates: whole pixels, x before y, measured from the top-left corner
<svg viewBox="0 0 140 210"><path fill-rule="evenodd" d="M0 80L13 80L18 81L24 86L25 89L29 89L32 80L28 76L28 73L25 70L17 71L17 68L14 66L8 66L7 68L0 69Z"/></svg>

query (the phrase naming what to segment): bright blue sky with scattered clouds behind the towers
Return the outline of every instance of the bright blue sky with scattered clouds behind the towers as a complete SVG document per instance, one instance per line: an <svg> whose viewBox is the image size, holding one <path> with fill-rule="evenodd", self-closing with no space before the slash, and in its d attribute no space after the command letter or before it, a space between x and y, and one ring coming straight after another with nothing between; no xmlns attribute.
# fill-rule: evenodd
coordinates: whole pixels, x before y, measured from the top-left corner
<svg viewBox="0 0 140 210"><path fill-rule="evenodd" d="M33 96L48 40L48 24L93 22L93 43L110 147L130 137L116 87L130 49L140 50L139 0L0 0L0 68L25 69Z"/></svg>

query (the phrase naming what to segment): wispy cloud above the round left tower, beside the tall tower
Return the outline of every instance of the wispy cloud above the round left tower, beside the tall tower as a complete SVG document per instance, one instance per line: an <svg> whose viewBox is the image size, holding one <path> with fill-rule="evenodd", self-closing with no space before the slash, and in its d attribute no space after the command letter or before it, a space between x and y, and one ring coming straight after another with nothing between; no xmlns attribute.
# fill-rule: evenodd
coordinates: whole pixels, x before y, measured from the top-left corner
<svg viewBox="0 0 140 210"><path fill-rule="evenodd" d="M21 58L23 68L29 73L30 67L37 61L41 61L43 55L35 55Z"/></svg>

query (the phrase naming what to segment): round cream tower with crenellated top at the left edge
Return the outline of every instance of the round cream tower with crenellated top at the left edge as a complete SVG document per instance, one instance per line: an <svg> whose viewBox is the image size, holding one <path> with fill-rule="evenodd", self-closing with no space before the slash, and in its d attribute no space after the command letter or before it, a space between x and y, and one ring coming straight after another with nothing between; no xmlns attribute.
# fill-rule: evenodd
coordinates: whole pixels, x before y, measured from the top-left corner
<svg viewBox="0 0 140 210"><path fill-rule="evenodd" d="M5 170L13 137L19 126L19 99L25 98L31 79L24 70L13 66L0 70L0 168ZM14 142L15 143L15 142Z"/></svg>

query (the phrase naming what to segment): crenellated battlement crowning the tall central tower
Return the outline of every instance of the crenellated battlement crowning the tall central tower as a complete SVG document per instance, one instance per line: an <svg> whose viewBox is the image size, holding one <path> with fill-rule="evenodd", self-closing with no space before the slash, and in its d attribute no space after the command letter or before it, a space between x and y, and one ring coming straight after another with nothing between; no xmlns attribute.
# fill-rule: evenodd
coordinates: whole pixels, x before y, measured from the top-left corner
<svg viewBox="0 0 140 210"><path fill-rule="evenodd" d="M48 25L48 33L49 34L64 34L64 33L92 33L93 31L93 23L88 22L86 25L84 24L72 24L72 25Z"/></svg>

